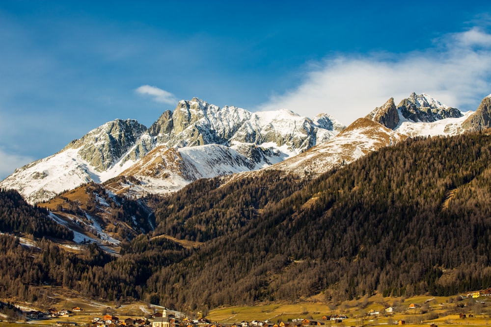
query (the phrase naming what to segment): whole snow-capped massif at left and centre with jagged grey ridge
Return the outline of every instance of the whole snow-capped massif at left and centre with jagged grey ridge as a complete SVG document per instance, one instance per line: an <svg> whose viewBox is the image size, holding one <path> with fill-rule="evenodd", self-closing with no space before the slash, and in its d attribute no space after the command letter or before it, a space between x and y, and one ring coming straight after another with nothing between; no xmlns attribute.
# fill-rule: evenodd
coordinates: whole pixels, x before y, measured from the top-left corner
<svg viewBox="0 0 491 327"><path fill-rule="evenodd" d="M150 128L119 119L97 127L54 155L17 169L0 187L17 189L35 203L124 172L142 180L133 187L137 195L166 193L198 178L267 167L343 128L328 115L311 120L288 110L252 113L193 98L164 112Z"/></svg>

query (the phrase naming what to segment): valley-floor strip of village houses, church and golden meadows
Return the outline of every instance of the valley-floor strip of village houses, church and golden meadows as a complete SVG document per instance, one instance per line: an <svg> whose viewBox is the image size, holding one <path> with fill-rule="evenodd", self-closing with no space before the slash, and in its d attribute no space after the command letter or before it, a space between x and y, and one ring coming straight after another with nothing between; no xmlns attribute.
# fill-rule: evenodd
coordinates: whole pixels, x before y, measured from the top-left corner
<svg viewBox="0 0 491 327"><path fill-rule="evenodd" d="M301 313L293 313L294 304L266 304L260 307L222 308L196 316L170 310L164 307L148 306L145 310L116 310L116 307L99 309L80 302L80 306L69 309L49 308L47 310L20 310L17 320L42 326L84 326L84 327L362 327L378 325L427 325L445 326L459 320L459 325L481 325L491 323L491 288L469 292L456 297L413 297L407 299L382 298L374 296L368 301L363 299L344 302L333 307L327 303L318 303L315 309L305 304ZM387 305L392 301L393 305ZM73 300L74 304L76 303ZM7 303L2 302L6 305ZM385 305L384 305L385 304ZM105 304L104 304L105 305ZM281 313L274 308L282 307ZM101 309L102 308L102 309ZM139 308L142 308L139 305ZM324 309L322 309L324 308ZM334 309L334 310L332 310ZM309 312L309 310L311 310ZM322 314L326 310L328 314ZM333 312L334 311L334 312ZM337 311L337 312L336 312ZM343 312L344 311L344 312ZM97 314L99 312L99 314ZM220 313L221 312L221 313ZM255 313L254 313L255 312ZM285 314L290 312L290 314ZM254 317L257 317L254 319ZM446 317L451 317L446 318ZM242 319L240 319L242 318ZM259 318L259 319L258 319ZM485 320L483 320L483 318ZM469 320L470 319L470 320ZM452 325L453 326L453 325Z"/></svg>

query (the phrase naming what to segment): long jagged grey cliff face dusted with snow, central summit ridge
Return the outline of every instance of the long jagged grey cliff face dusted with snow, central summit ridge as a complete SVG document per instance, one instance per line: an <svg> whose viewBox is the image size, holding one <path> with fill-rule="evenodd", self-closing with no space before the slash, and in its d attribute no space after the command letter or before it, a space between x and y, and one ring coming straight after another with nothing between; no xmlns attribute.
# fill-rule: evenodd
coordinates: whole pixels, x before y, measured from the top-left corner
<svg viewBox="0 0 491 327"><path fill-rule="evenodd" d="M136 160L157 146L167 148L244 143L263 148L282 148L288 156L326 142L345 126L326 114L311 120L289 110L252 113L242 108L219 108L198 98L180 101L137 141L125 159Z"/></svg>

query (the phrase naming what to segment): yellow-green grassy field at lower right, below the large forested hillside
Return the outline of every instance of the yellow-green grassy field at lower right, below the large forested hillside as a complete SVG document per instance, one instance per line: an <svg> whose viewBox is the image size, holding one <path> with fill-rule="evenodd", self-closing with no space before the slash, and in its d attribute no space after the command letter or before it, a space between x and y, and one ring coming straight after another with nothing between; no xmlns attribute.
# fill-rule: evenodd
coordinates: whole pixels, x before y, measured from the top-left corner
<svg viewBox="0 0 491 327"><path fill-rule="evenodd" d="M482 302L482 303L481 303ZM409 309L409 304L418 304ZM477 304L476 304L477 303ZM393 306L395 312L385 313L385 308ZM380 314L370 316L370 310ZM462 319L459 313L465 313ZM473 317L469 318L468 315ZM323 321L323 316L345 314L349 318L342 323ZM211 310L207 318L220 323L240 323L252 320L270 320L272 323L287 322L294 319L313 319L324 326L379 326L397 325L399 320L406 326L436 324L437 326L487 326L491 325L491 300L480 298L456 301L455 297L418 296L411 298L382 298L374 296L343 302L339 305L326 302L298 302L296 304L264 304L255 306L237 306Z"/></svg>

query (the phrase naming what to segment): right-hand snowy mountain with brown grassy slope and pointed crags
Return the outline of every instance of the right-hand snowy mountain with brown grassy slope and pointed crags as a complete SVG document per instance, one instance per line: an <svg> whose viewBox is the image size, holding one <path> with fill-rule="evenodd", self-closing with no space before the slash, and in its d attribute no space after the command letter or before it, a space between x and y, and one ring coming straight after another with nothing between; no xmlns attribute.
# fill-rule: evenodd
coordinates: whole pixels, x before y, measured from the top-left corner
<svg viewBox="0 0 491 327"><path fill-rule="evenodd" d="M267 169L299 176L319 176L334 167L355 161L368 152L408 137L452 136L491 127L491 95L479 108L462 113L427 94L412 93L398 106L390 98L365 118L356 120L337 136Z"/></svg>

